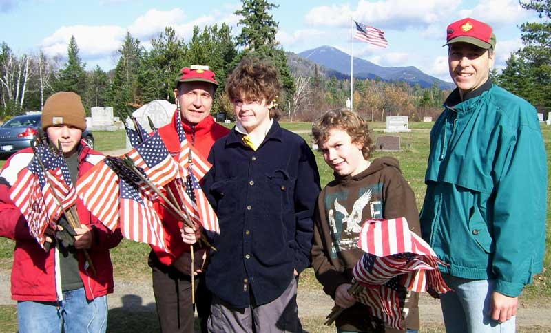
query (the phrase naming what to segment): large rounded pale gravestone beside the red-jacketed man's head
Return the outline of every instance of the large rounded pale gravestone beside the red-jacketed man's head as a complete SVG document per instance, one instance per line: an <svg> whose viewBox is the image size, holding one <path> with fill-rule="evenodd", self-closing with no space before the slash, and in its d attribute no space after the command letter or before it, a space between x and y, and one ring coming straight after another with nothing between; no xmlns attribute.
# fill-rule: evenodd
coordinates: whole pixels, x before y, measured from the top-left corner
<svg viewBox="0 0 551 333"><path fill-rule="evenodd" d="M153 100L132 112L132 116L136 118L136 120L146 131L151 132L152 128L149 126L149 120L147 120L148 116L149 119L152 120L154 127L158 129L159 127L163 127L172 121L174 111L176 111L176 105L170 103L168 100ZM134 128L134 125L131 121L129 121L129 118L126 119L126 123L130 128ZM128 137L126 138L126 149L132 149Z"/></svg>

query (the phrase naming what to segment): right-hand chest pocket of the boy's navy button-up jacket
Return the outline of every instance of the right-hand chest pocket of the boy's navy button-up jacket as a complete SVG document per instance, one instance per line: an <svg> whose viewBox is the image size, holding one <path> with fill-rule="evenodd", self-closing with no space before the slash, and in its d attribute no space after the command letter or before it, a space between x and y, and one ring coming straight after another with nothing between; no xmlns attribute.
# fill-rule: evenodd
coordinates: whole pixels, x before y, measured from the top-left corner
<svg viewBox="0 0 551 333"><path fill-rule="evenodd" d="M267 189L264 193L264 208L268 212L279 215L293 207L296 178L289 176L287 171L275 170L266 175Z"/></svg>

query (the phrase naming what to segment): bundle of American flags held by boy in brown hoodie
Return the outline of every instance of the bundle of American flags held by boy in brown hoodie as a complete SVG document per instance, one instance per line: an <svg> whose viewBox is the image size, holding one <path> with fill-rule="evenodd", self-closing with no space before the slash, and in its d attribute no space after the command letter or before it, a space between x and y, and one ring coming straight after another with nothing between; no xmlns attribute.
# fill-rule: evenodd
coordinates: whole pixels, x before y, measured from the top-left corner
<svg viewBox="0 0 551 333"><path fill-rule="evenodd" d="M371 314L391 327L402 329L402 309L407 290L433 294L450 290L441 277L435 252L415 233L404 217L368 219L358 246L365 252L353 269L361 283L358 298Z"/></svg>

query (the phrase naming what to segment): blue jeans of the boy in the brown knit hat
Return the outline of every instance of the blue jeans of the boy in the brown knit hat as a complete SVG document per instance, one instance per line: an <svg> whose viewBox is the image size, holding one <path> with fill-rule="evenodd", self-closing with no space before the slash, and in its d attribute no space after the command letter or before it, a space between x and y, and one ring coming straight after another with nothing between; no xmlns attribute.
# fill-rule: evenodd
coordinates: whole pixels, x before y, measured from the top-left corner
<svg viewBox="0 0 551 333"><path fill-rule="evenodd" d="M59 302L17 302L20 333L105 333L107 295L86 299L84 288L63 292Z"/></svg>

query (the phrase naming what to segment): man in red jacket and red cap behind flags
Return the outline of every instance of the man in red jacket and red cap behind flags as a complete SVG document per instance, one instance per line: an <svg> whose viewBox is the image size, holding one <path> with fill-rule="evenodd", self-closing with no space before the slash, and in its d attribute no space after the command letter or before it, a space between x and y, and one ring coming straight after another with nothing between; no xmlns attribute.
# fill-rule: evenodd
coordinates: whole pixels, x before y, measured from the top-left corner
<svg viewBox="0 0 551 333"><path fill-rule="evenodd" d="M160 137L173 155L180 151L177 122L182 122L187 140L205 160L214 142L229 133L229 129L218 125L210 116L216 87L218 82L208 67L191 66L182 69L174 89L178 109L174 112L172 122L159 129ZM160 329L170 333L194 332L194 305L191 303L191 274L194 274L201 330L207 332L211 296L205 288L200 269L206 259L205 249L195 248L196 267L192 270L189 246L182 241L178 220L160 205L156 206L156 210L163 217L165 241L170 251L167 253L152 246L149 254Z"/></svg>

